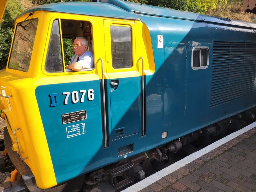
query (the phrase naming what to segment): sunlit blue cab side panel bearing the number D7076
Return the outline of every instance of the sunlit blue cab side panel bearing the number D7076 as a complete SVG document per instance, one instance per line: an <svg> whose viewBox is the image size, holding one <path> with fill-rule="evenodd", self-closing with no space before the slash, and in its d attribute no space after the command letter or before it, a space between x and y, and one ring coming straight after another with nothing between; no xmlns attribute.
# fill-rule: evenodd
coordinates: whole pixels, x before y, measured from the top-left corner
<svg viewBox="0 0 256 192"><path fill-rule="evenodd" d="M84 102L81 102L82 93L79 93L79 102L72 102L71 92L88 89L95 90L94 100L89 101L86 94ZM41 85L36 88L36 99L57 183L83 173L86 166L91 163L92 157L102 149L103 136L99 90L99 81ZM66 105L64 104L65 95L63 95L63 92L70 92ZM50 107L49 94L52 93L58 94L59 99L59 105L54 107ZM86 110L87 119L63 124L63 114L81 110ZM85 124L85 134L68 138L67 127L81 123ZM104 158L111 159L107 154Z"/></svg>

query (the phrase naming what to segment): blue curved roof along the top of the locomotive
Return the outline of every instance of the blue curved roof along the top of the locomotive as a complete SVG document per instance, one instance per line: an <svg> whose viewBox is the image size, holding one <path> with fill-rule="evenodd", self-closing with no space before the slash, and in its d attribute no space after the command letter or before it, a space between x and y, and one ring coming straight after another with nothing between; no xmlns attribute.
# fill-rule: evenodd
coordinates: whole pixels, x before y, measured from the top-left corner
<svg viewBox="0 0 256 192"><path fill-rule="evenodd" d="M122 0L100 0L98 3L62 2L45 4L28 9L23 14L33 11L53 11L61 13L104 16L110 18L124 18L132 20L140 20L140 15L148 15L256 29L255 23L236 21L215 16L206 16L203 14L197 14L187 11L178 11L174 9L167 9L163 7L133 3Z"/></svg>

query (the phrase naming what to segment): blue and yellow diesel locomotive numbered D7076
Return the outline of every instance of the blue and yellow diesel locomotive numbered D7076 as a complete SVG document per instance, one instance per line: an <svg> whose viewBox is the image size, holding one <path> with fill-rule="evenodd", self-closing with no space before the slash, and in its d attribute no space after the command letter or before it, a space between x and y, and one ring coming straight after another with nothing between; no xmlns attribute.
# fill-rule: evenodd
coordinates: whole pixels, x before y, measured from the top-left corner
<svg viewBox="0 0 256 192"><path fill-rule="evenodd" d="M92 69L65 69L78 36ZM255 74L255 23L122 0L28 9L0 72L1 187L121 191L253 121Z"/></svg>

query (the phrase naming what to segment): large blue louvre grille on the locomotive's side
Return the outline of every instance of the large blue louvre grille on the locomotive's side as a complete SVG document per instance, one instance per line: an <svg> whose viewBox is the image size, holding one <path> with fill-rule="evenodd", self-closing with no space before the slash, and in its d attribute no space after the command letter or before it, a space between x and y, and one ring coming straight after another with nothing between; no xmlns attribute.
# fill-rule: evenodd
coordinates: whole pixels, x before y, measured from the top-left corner
<svg viewBox="0 0 256 192"><path fill-rule="evenodd" d="M256 43L213 43L213 69L210 107L253 92Z"/></svg>

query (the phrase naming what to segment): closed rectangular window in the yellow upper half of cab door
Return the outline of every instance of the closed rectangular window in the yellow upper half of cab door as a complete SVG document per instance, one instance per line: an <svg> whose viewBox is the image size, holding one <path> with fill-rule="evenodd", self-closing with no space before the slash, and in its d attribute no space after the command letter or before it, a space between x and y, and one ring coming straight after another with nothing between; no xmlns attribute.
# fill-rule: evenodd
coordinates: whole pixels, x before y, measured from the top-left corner
<svg viewBox="0 0 256 192"><path fill-rule="evenodd" d="M110 26L112 66L114 69L132 67L132 29Z"/></svg>

